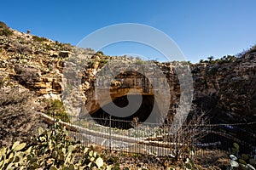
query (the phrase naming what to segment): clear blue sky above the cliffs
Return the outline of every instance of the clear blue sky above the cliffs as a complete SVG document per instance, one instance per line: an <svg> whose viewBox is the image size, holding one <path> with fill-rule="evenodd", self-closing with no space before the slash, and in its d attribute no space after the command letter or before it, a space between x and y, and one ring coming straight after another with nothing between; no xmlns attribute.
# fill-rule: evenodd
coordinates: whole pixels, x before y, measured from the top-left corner
<svg viewBox="0 0 256 170"><path fill-rule="evenodd" d="M10 27L73 45L97 29L119 23L165 32L192 62L238 54L256 44L255 0L5 0L0 4L0 20ZM160 57L128 43L102 51Z"/></svg>

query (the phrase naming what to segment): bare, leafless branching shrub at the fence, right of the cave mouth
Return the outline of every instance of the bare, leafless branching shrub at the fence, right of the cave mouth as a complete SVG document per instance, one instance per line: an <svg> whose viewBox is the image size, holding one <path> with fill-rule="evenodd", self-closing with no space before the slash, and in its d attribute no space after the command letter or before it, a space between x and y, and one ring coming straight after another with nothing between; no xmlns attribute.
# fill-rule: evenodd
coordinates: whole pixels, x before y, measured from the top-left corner
<svg viewBox="0 0 256 170"><path fill-rule="evenodd" d="M166 120L164 132L172 132L172 121L172 119ZM209 117L206 115L206 112L196 108L196 105L192 105L186 121L177 122L180 128L178 128L175 133L168 135L165 133L161 134L164 141L176 143L170 146L170 148L174 150L173 156L176 160L183 159L188 165L193 164L196 151L195 144L201 142L201 139L207 135L204 125L206 125L208 121Z"/></svg>

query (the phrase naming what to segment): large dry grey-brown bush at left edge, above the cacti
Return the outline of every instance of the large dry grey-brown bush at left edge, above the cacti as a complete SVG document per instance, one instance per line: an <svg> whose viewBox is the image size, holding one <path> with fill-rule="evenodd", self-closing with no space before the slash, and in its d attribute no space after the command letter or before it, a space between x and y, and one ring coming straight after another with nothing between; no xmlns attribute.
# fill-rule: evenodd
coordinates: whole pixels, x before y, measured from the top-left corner
<svg viewBox="0 0 256 170"><path fill-rule="evenodd" d="M32 94L19 92L18 88L1 88L0 93L0 146L27 141L42 126L32 105Z"/></svg>

